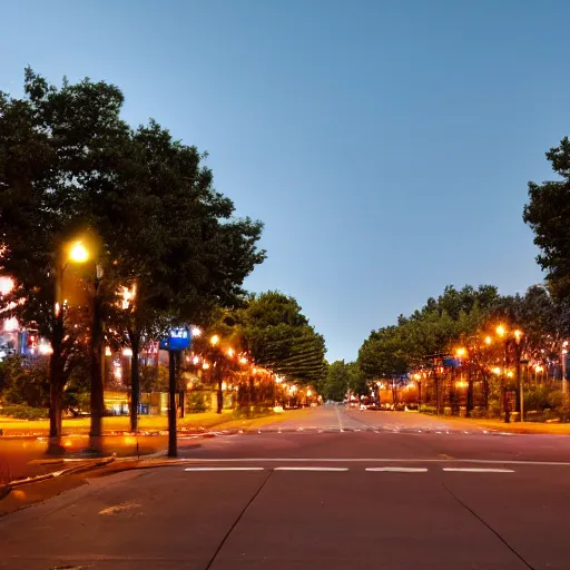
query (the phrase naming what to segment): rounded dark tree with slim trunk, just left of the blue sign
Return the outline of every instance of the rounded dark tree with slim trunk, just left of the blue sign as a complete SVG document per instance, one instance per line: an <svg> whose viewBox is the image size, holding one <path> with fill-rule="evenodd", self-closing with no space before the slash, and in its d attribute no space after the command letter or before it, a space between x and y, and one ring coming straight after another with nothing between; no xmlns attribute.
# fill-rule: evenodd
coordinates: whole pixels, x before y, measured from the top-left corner
<svg viewBox="0 0 570 570"><path fill-rule="evenodd" d="M115 318L132 348L136 431L142 340L168 324L202 323L216 305L232 306L265 252L256 247L262 224L233 218L232 200L213 188L195 147L173 140L156 121L125 147L114 186L95 194L90 209L109 252L106 271L129 297Z"/></svg>

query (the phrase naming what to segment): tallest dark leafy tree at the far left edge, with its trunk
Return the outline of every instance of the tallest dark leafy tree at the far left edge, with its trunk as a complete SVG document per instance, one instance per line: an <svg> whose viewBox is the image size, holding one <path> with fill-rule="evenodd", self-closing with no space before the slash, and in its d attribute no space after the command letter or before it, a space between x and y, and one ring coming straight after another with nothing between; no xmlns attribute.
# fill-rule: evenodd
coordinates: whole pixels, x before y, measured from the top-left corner
<svg viewBox="0 0 570 570"><path fill-rule="evenodd" d="M86 79L57 89L27 69L24 91L24 99L0 95L0 272L16 282L4 308L51 342L50 435L59 438L62 393L77 348L70 309L59 293L72 273L62 248L89 225L83 190L109 183L111 149L126 126L118 119L122 96L114 86ZM97 422L102 385L94 380Z"/></svg>

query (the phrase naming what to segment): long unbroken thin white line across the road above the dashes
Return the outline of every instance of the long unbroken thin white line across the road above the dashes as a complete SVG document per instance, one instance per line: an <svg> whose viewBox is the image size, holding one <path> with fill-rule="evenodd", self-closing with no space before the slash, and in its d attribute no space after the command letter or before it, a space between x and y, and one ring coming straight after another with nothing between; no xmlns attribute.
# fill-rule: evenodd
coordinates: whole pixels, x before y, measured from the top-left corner
<svg viewBox="0 0 570 570"><path fill-rule="evenodd" d="M463 463L479 465L531 465L531 466L566 466L569 461L524 461L491 459L426 459L426 458L180 458L177 463Z"/></svg>

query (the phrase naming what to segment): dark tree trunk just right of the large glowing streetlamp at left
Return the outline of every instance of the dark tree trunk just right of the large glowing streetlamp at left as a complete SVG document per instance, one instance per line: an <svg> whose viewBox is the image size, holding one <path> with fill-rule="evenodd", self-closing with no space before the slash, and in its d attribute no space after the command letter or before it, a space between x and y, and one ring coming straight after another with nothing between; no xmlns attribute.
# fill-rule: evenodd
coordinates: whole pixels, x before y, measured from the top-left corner
<svg viewBox="0 0 570 570"><path fill-rule="evenodd" d="M102 452L102 415L105 412L104 386L101 375L102 325L101 307L98 296L98 279L96 278L94 298L91 302L91 340L89 343L89 366L91 375L91 428L89 431L89 449L96 453Z"/></svg>

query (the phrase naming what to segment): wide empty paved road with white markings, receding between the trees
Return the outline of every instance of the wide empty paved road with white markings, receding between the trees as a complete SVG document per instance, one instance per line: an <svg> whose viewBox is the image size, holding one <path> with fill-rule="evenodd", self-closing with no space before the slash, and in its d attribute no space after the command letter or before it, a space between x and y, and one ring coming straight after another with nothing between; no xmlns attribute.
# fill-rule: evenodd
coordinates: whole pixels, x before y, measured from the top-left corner
<svg viewBox="0 0 570 570"><path fill-rule="evenodd" d="M570 568L570 438L316 410L0 519L0 568ZM30 544L33 544L30 548Z"/></svg>

